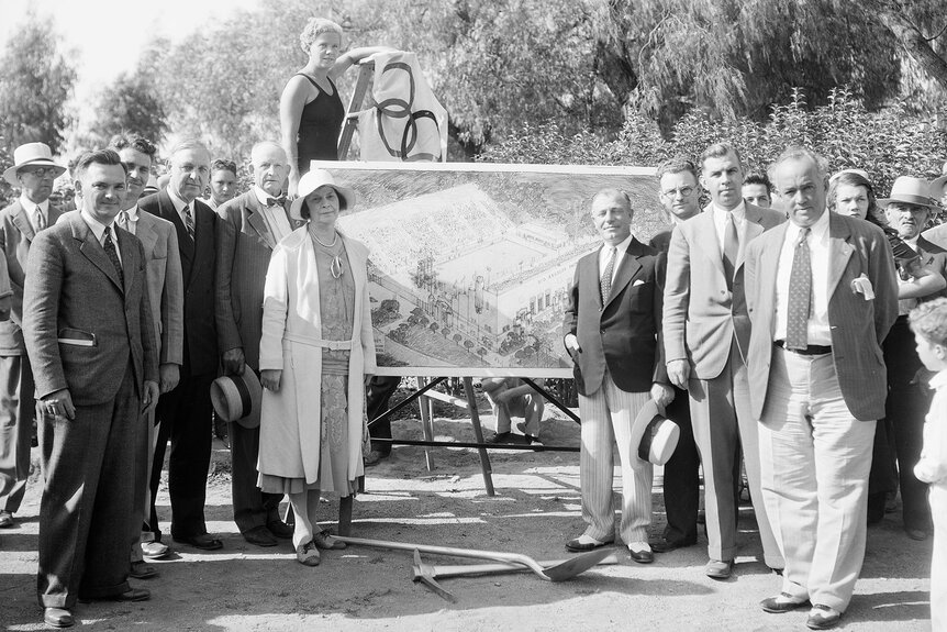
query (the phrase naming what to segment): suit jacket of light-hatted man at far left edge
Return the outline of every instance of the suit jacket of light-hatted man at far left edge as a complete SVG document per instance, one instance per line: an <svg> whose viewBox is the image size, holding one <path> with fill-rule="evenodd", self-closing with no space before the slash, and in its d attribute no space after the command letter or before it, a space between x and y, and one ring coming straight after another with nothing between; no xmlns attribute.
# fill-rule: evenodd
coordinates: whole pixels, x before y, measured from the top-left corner
<svg viewBox="0 0 947 632"><path fill-rule="evenodd" d="M62 213L49 204L46 225L52 226ZM7 258L7 274L13 290L10 320L0 322L0 355L22 355L23 346L23 282L26 255L36 234L20 200L0 211L0 250Z"/></svg>

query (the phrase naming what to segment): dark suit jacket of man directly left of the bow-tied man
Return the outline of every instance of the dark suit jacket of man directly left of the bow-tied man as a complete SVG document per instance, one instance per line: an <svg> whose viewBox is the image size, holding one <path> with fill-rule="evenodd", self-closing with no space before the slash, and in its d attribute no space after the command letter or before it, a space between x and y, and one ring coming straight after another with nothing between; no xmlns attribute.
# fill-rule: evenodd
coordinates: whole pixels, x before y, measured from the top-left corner
<svg viewBox="0 0 947 632"><path fill-rule="evenodd" d="M192 202L194 239L191 241L167 189L143 198L138 210L174 224L178 239L183 280L182 375L203 375L218 369L218 337L214 323L214 260L218 217L201 200Z"/></svg>

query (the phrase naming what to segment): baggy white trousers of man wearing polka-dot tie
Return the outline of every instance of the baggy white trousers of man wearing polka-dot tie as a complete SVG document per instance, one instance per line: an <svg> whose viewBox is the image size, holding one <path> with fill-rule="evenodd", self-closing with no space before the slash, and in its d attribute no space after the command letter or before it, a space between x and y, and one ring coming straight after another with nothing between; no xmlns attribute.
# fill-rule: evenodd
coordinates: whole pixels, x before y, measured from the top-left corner
<svg viewBox="0 0 947 632"><path fill-rule="evenodd" d="M759 428L762 498L786 556L782 590L844 612L865 559L874 421L842 398L832 354L772 350Z"/></svg>

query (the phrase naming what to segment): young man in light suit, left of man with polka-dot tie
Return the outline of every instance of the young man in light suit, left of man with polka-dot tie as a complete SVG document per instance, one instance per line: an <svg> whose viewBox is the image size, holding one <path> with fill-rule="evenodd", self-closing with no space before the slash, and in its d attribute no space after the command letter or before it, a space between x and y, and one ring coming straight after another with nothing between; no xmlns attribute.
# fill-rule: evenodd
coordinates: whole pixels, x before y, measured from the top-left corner
<svg viewBox="0 0 947 632"><path fill-rule="evenodd" d="M743 447L764 559L782 568L759 492L756 420L749 413L744 298L746 245L784 221L782 213L743 200L743 166L729 145L701 157L711 196L703 213L675 226L665 284L665 354L671 384L690 396L694 440L704 472L709 556L705 573L725 579L736 555L737 489Z"/></svg>

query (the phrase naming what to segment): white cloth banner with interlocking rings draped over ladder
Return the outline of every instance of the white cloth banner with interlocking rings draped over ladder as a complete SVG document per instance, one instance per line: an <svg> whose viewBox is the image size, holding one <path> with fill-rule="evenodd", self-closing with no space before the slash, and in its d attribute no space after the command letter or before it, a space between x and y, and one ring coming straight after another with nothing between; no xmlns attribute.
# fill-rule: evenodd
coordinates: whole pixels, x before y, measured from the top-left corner
<svg viewBox="0 0 947 632"><path fill-rule="evenodd" d="M447 162L447 110L414 53L375 55L375 107L358 115L361 159Z"/></svg>

